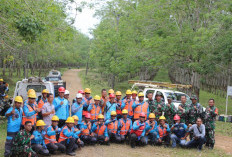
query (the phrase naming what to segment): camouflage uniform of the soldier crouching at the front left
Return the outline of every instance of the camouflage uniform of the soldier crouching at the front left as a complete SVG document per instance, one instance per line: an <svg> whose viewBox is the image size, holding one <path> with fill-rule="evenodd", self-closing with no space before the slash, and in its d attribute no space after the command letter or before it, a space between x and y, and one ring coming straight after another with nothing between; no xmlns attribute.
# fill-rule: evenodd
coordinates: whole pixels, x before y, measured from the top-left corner
<svg viewBox="0 0 232 157"><path fill-rule="evenodd" d="M36 157L36 153L31 148L31 134L26 130L20 130L13 141L12 153L13 156L28 157L31 153L32 157Z"/></svg>

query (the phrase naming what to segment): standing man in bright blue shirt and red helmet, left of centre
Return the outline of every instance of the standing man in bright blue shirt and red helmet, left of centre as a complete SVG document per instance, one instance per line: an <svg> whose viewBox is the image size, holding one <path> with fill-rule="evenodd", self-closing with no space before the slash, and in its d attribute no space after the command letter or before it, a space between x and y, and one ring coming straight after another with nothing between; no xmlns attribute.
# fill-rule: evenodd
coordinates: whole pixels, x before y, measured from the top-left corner
<svg viewBox="0 0 232 157"><path fill-rule="evenodd" d="M64 98L64 87L59 87L58 89L59 96L53 100L53 104L55 107L55 114L59 118L58 127L62 128L65 125L65 121L69 116L69 106L68 100Z"/></svg>

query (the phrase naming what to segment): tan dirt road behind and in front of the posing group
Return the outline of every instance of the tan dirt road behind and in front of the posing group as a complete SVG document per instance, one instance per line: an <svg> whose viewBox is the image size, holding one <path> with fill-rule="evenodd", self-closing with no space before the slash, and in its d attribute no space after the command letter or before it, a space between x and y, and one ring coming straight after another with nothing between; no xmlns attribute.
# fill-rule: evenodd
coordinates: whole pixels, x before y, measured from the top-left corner
<svg viewBox="0 0 232 157"><path fill-rule="evenodd" d="M64 72L63 79L66 80L66 87L70 91L70 100L75 98L75 95L78 90L82 89L81 80L78 77L78 72L80 69L71 69ZM226 136L216 136L216 145L217 149L222 149L228 154L232 154L232 138ZM113 149L112 149L113 148ZM163 147L138 147L136 149L131 149L128 145L118 145L111 144L111 146L87 146L84 147L81 151L76 152L76 156L81 157L141 157L141 156L176 156L179 149L166 149ZM193 155L195 151L186 151L181 150L185 153L185 156L198 156L199 154ZM164 153L165 152L165 153ZM206 152L209 153L209 152ZM65 155L56 155L59 157L64 157Z"/></svg>

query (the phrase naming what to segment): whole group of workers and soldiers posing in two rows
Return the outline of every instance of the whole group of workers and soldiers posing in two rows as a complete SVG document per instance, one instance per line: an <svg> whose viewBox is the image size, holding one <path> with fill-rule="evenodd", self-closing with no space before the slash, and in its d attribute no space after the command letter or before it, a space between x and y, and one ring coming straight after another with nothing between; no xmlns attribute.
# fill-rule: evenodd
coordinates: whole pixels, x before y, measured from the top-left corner
<svg viewBox="0 0 232 157"><path fill-rule="evenodd" d="M5 156L48 156L57 151L75 156L75 150L84 145L127 143L136 146L164 145L175 148L198 148L203 144L214 147L215 119L218 109L214 99L204 110L197 97L181 96L176 107L172 97L163 101L162 93L126 91L108 92L102 89L101 96L91 96L86 88L78 91L76 98L69 101L69 91L58 89L59 96L48 90L42 91L37 99L33 89L28 90L28 99L16 96L14 104L6 112L8 118ZM190 135L190 141L187 137Z"/></svg>

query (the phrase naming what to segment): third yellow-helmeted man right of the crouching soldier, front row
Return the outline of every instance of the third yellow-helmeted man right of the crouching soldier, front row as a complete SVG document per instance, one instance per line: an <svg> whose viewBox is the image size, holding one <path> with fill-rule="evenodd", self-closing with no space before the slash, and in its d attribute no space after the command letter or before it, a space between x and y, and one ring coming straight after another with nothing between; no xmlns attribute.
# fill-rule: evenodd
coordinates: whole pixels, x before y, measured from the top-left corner
<svg viewBox="0 0 232 157"><path fill-rule="evenodd" d="M60 132L60 137L58 142L66 146L66 154L70 156L75 156L74 152L78 146L75 144L74 136L74 119L73 117L68 117L65 121L66 125Z"/></svg>

